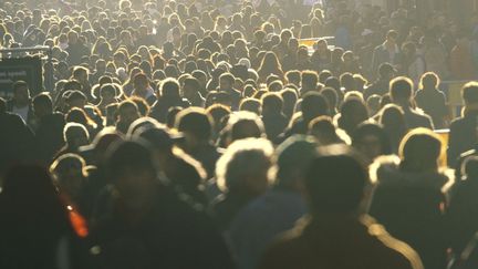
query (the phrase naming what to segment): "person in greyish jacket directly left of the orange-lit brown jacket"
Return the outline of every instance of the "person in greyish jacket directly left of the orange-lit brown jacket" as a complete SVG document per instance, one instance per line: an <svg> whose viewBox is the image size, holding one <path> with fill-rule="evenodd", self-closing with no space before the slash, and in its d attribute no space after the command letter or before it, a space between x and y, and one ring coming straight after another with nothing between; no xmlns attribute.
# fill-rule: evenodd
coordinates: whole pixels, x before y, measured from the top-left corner
<svg viewBox="0 0 478 269"><path fill-rule="evenodd" d="M292 229L305 214L305 201L298 186L303 180L304 168L313 157L315 146L311 138L298 135L278 147L279 167L274 186L241 209L227 231L238 268L256 268L273 238Z"/></svg>

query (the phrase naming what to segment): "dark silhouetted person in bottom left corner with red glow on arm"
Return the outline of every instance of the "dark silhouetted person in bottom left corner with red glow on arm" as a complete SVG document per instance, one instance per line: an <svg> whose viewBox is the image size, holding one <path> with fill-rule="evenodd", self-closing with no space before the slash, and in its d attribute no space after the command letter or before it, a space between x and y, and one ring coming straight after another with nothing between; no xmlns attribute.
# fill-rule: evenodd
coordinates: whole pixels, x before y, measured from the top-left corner
<svg viewBox="0 0 478 269"><path fill-rule="evenodd" d="M66 205L59 197L46 169L14 166L4 174L2 187L1 268L89 268L81 232L75 235L79 229L74 229ZM87 236L84 226L77 227L85 232L82 237Z"/></svg>

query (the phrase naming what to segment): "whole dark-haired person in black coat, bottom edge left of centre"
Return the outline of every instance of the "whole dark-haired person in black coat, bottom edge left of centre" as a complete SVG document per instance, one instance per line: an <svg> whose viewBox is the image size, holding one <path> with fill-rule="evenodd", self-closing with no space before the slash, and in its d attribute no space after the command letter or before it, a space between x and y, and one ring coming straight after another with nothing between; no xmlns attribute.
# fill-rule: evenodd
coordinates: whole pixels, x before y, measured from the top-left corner
<svg viewBox="0 0 478 269"><path fill-rule="evenodd" d="M104 249L98 257L103 265L125 260L142 262L142 268L232 268L212 219L187 195L157 178L146 145L112 146L106 169L121 196L111 197L111 215L92 232ZM135 260L138 254L142 259Z"/></svg>

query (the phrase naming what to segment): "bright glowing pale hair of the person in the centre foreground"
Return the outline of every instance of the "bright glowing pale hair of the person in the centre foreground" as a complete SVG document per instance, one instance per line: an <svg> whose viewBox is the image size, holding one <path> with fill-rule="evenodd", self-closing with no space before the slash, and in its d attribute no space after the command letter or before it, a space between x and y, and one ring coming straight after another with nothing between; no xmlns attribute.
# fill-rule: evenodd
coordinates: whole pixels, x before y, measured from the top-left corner
<svg viewBox="0 0 478 269"><path fill-rule="evenodd" d="M266 138L246 138L233 142L216 165L217 185L230 192L250 175L267 173L269 183L276 174L272 143Z"/></svg>

